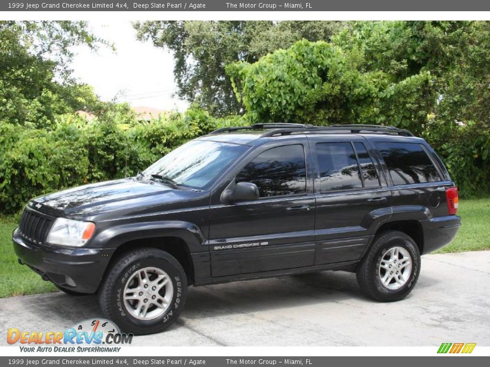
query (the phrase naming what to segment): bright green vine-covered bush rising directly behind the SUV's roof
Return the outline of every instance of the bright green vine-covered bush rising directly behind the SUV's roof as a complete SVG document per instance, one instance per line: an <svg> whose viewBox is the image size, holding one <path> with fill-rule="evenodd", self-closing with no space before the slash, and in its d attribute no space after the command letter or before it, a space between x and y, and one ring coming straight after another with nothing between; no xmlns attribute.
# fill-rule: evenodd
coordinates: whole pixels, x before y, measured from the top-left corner
<svg viewBox="0 0 490 367"><path fill-rule="evenodd" d="M430 74L394 82L390 73L363 70L360 60L332 43L302 40L256 63L230 64L227 72L252 122L388 121L418 132L433 103L424 98Z"/></svg>

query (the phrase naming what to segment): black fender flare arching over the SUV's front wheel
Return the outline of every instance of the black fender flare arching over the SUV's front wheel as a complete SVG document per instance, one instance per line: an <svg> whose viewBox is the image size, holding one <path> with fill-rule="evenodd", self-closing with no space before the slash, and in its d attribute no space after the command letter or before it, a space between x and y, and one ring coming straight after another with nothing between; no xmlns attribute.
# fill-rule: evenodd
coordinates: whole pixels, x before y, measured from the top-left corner
<svg viewBox="0 0 490 367"><path fill-rule="evenodd" d="M166 236L182 239L191 254L208 251L209 246L201 229L184 221L138 222L113 226L97 233L90 246L115 249L128 241Z"/></svg>

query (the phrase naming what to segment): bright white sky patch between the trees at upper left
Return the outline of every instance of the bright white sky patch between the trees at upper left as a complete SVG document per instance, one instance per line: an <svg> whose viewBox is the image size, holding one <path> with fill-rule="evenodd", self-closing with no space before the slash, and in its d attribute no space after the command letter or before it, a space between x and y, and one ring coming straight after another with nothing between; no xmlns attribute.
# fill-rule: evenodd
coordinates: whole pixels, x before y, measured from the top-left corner
<svg viewBox="0 0 490 367"><path fill-rule="evenodd" d="M79 82L93 86L95 94L107 101L117 95L117 101L133 107L180 112L187 108L187 102L173 95L174 58L168 50L136 40L128 20L90 21L89 27L96 36L114 42L116 50L75 47L71 68Z"/></svg>

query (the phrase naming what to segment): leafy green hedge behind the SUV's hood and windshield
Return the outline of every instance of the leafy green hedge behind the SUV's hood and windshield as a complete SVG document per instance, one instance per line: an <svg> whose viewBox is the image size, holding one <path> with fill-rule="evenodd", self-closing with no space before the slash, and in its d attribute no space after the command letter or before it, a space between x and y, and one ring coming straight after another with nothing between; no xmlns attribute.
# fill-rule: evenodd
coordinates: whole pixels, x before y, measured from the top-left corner
<svg viewBox="0 0 490 367"><path fill-rule="evenodd" d="M0 123L0 213L14 213L42 193L135 175L187 140L240 123L192 109L150 124L120 123L120 116L58 120L52 130Z"/></svg>

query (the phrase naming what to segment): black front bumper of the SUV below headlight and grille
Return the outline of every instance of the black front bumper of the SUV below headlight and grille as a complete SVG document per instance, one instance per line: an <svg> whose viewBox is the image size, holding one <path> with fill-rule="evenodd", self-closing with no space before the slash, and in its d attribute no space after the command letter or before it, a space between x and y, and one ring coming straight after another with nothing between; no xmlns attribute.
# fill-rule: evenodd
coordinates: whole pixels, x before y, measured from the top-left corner
<svg viewBox="0 0 490 367"><path fill-rule="evenodd" d="M12 234L14 250L22 263L60 287L95 293L115 249L33 245L18 230Z"/></svg>

